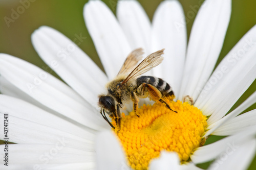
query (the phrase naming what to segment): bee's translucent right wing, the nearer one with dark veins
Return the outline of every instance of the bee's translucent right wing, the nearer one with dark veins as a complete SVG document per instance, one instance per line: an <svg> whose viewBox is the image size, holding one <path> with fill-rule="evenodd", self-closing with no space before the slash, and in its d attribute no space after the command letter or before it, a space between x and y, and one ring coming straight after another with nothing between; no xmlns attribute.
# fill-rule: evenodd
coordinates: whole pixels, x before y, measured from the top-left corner
<svg viewBox="0 0 256 170"><path fill-rule="evenodd" d="M134 68L130 75L123 80L122 84L137 76L142 75L143 73L151 70L153 67L159 65L163 61L163 56L161 56L163 54L163 51L164 49L159 50L142 60L141 63L139 63L139 65Z"/></svg>

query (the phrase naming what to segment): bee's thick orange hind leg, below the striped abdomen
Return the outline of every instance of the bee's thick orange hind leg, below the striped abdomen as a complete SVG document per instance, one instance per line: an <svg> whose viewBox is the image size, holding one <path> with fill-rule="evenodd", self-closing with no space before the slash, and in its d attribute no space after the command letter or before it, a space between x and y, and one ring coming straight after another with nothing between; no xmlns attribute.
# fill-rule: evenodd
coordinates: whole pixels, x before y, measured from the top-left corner
<svg viewBox="0 0 256 170"><path fill-rule="evenodd" d="M165 104L168 109L174 111L173 109L170 108L170 106L165 101L163 101L161 99L162 94L155 86L153 86L151 84L143 83L143 87L147 89L148 94L150 95L150 97L153 101L159 101L159 102ZM174 112L176 112L176 111L174 111Z"/></svg>

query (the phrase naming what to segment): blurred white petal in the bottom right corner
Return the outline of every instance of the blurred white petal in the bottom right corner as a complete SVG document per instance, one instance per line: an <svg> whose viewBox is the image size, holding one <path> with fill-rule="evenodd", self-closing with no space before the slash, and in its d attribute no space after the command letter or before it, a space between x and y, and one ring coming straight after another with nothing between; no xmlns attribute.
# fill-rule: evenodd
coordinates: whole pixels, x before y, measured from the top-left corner
<svg viewBox="0 0 256 170"><path fill-rule="evenodd" d="M209 170L247 169L256 151L256 140L242 144L235 152L224 152L210 165Z"/></svg>

